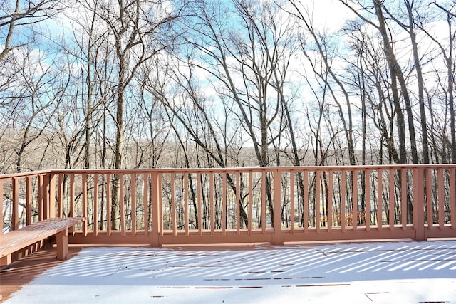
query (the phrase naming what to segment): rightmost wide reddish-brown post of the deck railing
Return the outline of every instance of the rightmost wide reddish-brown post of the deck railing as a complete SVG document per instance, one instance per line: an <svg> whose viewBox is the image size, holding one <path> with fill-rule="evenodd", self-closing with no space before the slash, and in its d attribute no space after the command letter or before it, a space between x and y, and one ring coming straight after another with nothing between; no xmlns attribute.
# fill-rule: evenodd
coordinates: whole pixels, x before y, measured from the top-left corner
<svg viewBox="0 0 456 304"><path fill-rule="evenodd" d="M425 186L424 169L413 169L413 226L415 227L415 241L426 241L425 234Z"/></svg>

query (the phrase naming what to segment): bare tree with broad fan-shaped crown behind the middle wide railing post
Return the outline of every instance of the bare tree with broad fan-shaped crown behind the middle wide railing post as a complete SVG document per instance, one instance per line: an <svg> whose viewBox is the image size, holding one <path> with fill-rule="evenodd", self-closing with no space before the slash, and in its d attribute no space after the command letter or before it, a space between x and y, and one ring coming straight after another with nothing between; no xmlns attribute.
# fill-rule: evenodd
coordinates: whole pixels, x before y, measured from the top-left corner
<svg viewBox="0 0 456 304"><path fill-rule="evenodd" d="M202 1L193 8L197 22L188 30L186 43L202 54L192 62L210 75L210 81L236 115L252 142L259 166L280 164L285 138L290 140L290 159L299 164L291 100L284 91L289 82L289 63L296 49L292 23L281 17L275 4ZM229 29L226 16L236 19ZM204 64L203 64L204 63ZM209 64L207 64L209 63ZM284 137L285 131L288 137ZM274 147L275 154L270 153ZM267 206L273 216L271 180L266 177Z"/></svg>

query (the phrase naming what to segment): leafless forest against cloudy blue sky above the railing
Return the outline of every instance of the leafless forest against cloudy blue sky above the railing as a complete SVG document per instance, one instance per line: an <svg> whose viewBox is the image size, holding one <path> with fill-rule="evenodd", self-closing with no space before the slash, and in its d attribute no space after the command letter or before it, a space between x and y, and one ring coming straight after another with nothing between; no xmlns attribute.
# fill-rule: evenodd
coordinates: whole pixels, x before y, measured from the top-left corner
<svg viewBox="0 0 456 304"><path fill-rule="evenodd" d="M1 1L1 173L456 162L455 1L71 2Z"/></svg>

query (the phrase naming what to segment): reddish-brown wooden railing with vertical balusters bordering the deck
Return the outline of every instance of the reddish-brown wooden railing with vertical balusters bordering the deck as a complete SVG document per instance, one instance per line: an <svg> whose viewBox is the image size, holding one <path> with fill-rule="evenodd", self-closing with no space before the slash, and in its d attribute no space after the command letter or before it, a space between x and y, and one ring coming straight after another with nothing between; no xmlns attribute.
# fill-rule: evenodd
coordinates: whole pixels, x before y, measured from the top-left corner
<svg viewBox="0 0 456 304"><path fill-rule="evenodd" d="M1 228L83 216L72 243L151 246L456 237L455 170L432 164L7 174L0 175Z"/></svg>

